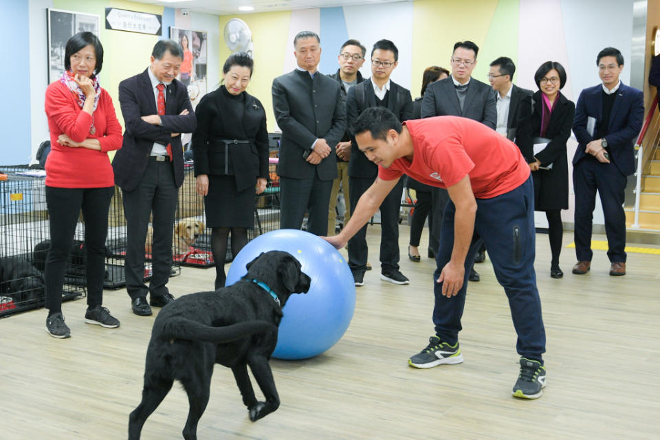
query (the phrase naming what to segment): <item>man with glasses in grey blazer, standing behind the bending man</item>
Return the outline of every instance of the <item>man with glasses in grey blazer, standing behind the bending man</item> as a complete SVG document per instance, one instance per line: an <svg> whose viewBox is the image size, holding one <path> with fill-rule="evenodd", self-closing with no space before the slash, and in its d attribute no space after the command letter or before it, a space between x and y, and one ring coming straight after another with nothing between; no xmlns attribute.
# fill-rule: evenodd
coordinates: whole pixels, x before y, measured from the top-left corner
<svg viewBox="0 0 660 440"><path fill-rule="evenodd" d="M472 78L472 70L476 66L476 56L479 47L472 41L459 41L454 44L454 52L450 63L452 75L449 78L430 84L421 103L421 117L430 116L462 116L481 122L495 129L497 124L497 111L495 95L491 87ZM431 230L440 230L442 214L449 200L446 190L435 189L432 192L433 227ZM429 250L429 256L436 250ZM481 259L481 258L479 258ZM483 261L483 260L482 260ZM472 269L470 281L479 281L479 274Z"/></svg>

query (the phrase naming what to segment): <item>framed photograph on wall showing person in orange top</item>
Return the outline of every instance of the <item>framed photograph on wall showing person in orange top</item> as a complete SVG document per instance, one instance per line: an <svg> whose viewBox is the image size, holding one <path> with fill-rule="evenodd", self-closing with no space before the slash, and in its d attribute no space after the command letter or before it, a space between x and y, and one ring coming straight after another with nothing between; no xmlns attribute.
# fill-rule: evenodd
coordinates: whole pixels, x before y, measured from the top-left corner
<svg viewBox="0 0 660 440"><path fill-rule="evenodd" d="M184 62L181 63L179 80L188 87L188 94L195 107L206 95L206 32L170 28L170 39L177 41L184 49Z"/></svg>

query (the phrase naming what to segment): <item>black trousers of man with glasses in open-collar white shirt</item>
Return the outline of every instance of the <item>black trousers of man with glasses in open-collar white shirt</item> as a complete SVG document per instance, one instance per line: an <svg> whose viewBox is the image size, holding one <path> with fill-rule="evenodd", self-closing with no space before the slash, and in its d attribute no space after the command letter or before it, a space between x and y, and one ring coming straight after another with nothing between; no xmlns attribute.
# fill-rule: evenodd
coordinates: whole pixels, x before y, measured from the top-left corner
<svg viewBox="0 0 660 440"><path fill-rule="evenodd" d="M349 193L351 212L355 212L358 200L373 184L374 179L349 177ZM399 270L399 210L401 210L401 195L404 192L404 181L399 183L385 197L380 205L380 267L382 272ZM366 227L349 240L349 267L353 272L364 272L369 248L366 245Z"/></svg>

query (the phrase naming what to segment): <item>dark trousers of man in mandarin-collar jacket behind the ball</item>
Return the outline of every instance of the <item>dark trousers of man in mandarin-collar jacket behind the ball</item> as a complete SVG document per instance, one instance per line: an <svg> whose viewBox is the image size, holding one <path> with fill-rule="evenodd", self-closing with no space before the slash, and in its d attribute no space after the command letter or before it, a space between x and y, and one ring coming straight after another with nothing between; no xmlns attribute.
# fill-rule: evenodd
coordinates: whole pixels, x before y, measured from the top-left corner
<svg viewBox="0 0 660 440"><path fill-rule="evenodd" d="M308 179L280 177L280 228L302 228L307 210L307 232L325 236L332 182L319 179L316 173Z"/></svg>

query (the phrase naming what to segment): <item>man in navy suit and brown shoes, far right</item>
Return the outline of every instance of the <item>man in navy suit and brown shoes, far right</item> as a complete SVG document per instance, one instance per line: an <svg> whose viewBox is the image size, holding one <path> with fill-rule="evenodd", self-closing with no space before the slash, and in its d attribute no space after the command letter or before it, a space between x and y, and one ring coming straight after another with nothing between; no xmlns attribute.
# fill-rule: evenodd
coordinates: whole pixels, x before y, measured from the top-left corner
<svg viewBox="0 0 660 440"><path fill-rule="evenodd" d="M575 254L573 274L591 267L591 220L600 194L605 217L610 275L626 274L627 176L635 172L633 146L644 118L643 93L621 83L624 57L606 47L596 58L602 84L582 90L575 107L573 133L580 144L573 156Z"/></svg>

